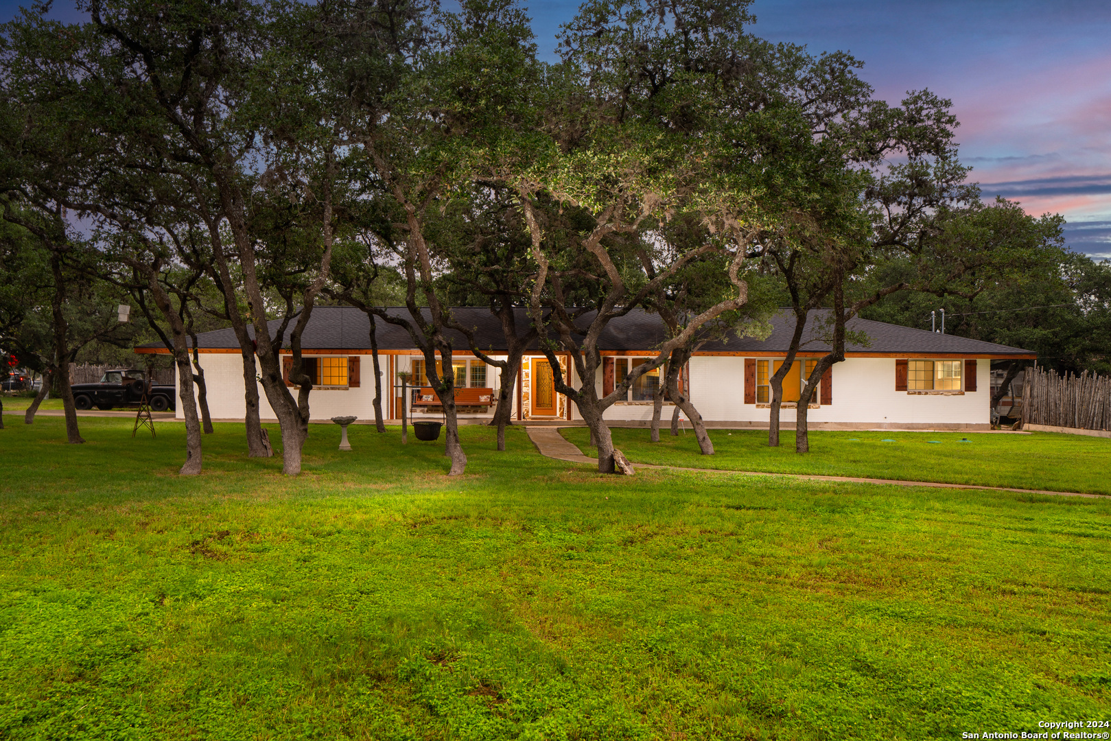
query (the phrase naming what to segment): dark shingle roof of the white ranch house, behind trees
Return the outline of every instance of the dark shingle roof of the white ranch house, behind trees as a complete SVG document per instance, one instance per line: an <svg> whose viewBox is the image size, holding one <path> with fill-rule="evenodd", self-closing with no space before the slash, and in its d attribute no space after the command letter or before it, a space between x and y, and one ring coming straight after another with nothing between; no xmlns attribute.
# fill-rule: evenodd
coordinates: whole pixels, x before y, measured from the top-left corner
<svg viewBox="0 0 1111 741"><path fill-rule="evenodd" d="M389 310L391 314L398 317L409 317L409 311L403 308ZM458 321L468 327L473 327L479 347L483 350L504 350L506 343L502 337L501 322L490 313L484 307L459 307L452 309ZM524 309L517 310L517 327L519 332L524 332L530 326L528 312ZM829 346L813 339L815 320L821 319L823 312L815 311L809 318L805 333L803 334L803 352L824 352ZM582 320L585 327L589 318ZM410 350L413 349L413 341L401 327L389 324L381 319L378 326L378 347L380 350ZM273 320L269 322L270 331L276 332L280 322ZM701 349L703 352L730 352L730 353L785 353L791 341L794 329L794 316L790 311L780 311L771 318L772 332L764 340L753 337L740 338L735 332L730 332L722 340L707 342ZM851 353L928 353L928 354L963 354L963 356L990 356L1008 358L1013 356L1032 356L1033 352L1019 348L1009 348L992 342L970 340L955 334L939 334L925 330L888 324L885 322L871 321L868 319L853 319L849 322L849 329L865 333L871 342L868 347L849 344L847 352ZM248 328L251 337L254 336L253 328ZM450 332L453 336L453 347L459 350L467 350L467 340L459 332ZM288 337L288 330L287 330ZM601 350L624 350L643 351L651 350L664 340L663 324L655 314L647 313L642 310L634 310L629 314L612 320L599 339ZM229 329L216 330L213 332L202 332L198 334L198 344L201 349L239 349L234 332ZM287 340L287 347L289 344ZM144 348L159 348L160 343L143 346ZM367 316L353 307L316 307L312 317L304 328L301 338L301 347L306 350L369 350L370 349L370 321ZM534 349L534 346L533 346Z"/></svg>

